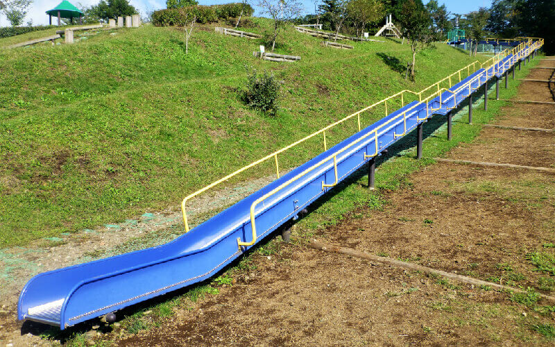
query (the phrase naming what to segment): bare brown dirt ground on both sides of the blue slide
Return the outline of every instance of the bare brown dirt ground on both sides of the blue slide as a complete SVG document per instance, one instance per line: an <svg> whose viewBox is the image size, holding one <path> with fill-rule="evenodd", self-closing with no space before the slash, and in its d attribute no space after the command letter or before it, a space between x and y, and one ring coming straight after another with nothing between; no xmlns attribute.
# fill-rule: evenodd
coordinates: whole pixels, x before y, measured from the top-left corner
<svg viewBox="0 0 555 347"><path fill-rule="evenodd" d="M539 66L551 66L547 63ZM534 69L527 78L548 79L551 75L552 70ZM522 83L517 98L554 100L547 83ZM555 128L555 107L515 103L502 110L495 124ZM475 142L457 147L447 158L555 167L555 133L483 128ZM318 232L316 239L555 295L539 285L549 275L536 271L527 259L532 251L554 252L545 245L555 244L555 174L438 163L409 176L402 189L381 194L382 209L355 210L339 225ZM165 218L176 218L175 213L155 215L155 222L147 225L167 228L172 222ZM103 233L93 235L102 238ZM294 227L293 237L296 242L285 244L275 239L270 251L253 253L241 270L233 273L232 285L219 287L219 295L176 305L173 316L153 319L156 324L148 330L130 333L112 326L104 335L94 332L89 344L553 344L533 327L554 325L550 312L555 309L538 312L531 305L509 300L511 295L503 292L316 251L302 242L300 230ZM45 253L53 254L46 266L58 267L64 261L59 252L62 247L78 243L71 239L45 247ZM118 244L101 244L101 251L93 255L105 254ZM82 253L69 254L68 259L76 262L91 255L85 252L86 245L82 248ZM25 255L8 258L0 253L0 260L13 260L11 274L18 274L24 283L33 271L43 269L25 270L14 259L37 264L42 253L21 254ZM62 258L53 258L54 254ZM7 267L8 262L2 266ZM0 280L2 303L9 304L0 310L0 341L14 346L49 344L37 336L40 329L22 329L15 321L12 302L22 284L7 285L4 278ZM555 291L555 287L551 289ZM545 300L538 304L555 305ZM149 314L144 314L147 320Z"/></svg>

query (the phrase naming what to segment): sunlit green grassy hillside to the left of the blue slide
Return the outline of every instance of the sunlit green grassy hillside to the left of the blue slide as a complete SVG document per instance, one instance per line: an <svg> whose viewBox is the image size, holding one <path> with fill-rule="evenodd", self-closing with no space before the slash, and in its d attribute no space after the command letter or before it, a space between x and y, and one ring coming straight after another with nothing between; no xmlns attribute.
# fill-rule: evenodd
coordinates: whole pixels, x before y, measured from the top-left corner
<svg viewBox="0 0 555 347"><path fill-rule="evenodd" d="M268 28L266 19L253 22L244 30ZM302 60L283 64L253 58L262 40L217 35L213 26L196 29L188 55L182 31L153 26L74 45L0 49L0 246L177 208L212 180L475 59L438 44L418 57L411 83L409 46L384 41L337 50L287 28L277 51ZM252 69L282 81L277 117L241 101ZM363 125L380 117L367 114ZM328 146L355 130L330 133ZM321 147L299 147L280 165ZM272 172L268 165L244 178Z"/></svg>

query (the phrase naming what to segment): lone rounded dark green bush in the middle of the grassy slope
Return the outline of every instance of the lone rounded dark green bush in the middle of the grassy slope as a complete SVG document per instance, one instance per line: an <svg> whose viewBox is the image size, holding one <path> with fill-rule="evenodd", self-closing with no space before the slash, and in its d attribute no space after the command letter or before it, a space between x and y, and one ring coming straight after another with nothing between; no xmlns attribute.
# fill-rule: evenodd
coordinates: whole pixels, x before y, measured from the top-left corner
<svg viewBox="0 0 555 347"><path fill-rule="evenodd" d="M257 75L256 71L248 76L247 90L244 94L244 101L257 110L268 112L275 116L278 111L278 92L280 85L275 80L273 74L264 71L264 75Z"/></svg>

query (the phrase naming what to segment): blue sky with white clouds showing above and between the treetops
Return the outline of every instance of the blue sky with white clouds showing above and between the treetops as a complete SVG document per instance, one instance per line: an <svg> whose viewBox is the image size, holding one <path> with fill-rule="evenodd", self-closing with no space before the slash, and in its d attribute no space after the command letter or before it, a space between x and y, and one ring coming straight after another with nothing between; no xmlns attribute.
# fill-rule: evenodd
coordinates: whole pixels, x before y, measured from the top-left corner
<svg viewBox="0 0 555 347"><path fill-rule="evenodd" d="M58 3L62 0L34 0L31 5L25 22L29 20L33 21L33 25L48 24L48 16L46 15L46 10L51 10L55 8ZM92 6L99 2L99 0L69 0L77 7L82 6ZM229 3L239 0L199 0L201 5L214 5L216 3ZM312 0L299 0L305 6L305 12L314 13L314 1ZM427 3L429 0L423 0ZM153 10L158 10L160 8L166 8L165 0L130 0L130 3L139 10L139 12L144 15L147 12ZM257 3L257 0L250 0L250 3ZM477 10L480 7L490 7L491 0L438 0L438 3L445 3L447 10L452 13L468 13L473 10ZM255 15L259 15L259 10L255 6ZM53 20L53 24L56 24L56 20ZM2 14L0 15L0 26L8 26L8 20Z"/></svg>

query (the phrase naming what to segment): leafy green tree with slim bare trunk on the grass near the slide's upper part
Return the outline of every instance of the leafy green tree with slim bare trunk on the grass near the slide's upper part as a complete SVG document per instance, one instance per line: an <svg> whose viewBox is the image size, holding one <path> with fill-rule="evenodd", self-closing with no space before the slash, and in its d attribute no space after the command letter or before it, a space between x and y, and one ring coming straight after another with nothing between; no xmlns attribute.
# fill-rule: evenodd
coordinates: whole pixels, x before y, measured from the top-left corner
<svg viewBox="0 0 555 347"><path fill-rule="evenodd" d="M424 8L422 2L408 0L403 3L399 22L403 28L403 36L407 37L412 50L411 78L414 80L414 67L416 67L416 53L426 49L432 43L432 18Z"/></svg>

